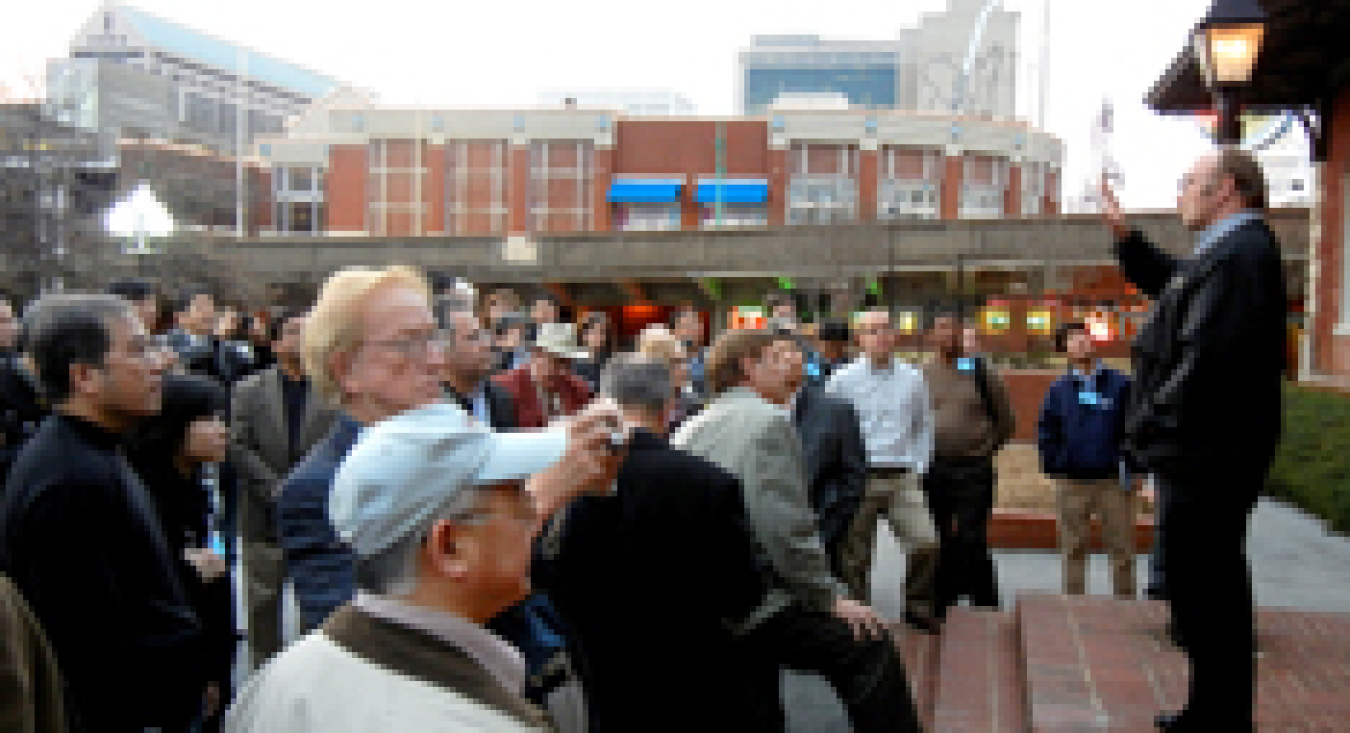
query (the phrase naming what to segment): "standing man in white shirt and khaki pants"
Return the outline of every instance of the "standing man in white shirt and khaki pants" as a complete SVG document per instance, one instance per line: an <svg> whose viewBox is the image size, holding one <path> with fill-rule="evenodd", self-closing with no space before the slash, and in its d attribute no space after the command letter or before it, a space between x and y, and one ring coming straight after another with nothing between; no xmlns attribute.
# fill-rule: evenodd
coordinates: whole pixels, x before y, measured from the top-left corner
<svg viewBox="0 0 1350 733"><path fill-rule="evenodd" d="M855 335L863 355L834 373L825 387L857 410L867 445L867 491L840 552L844 582L855 598L871 597L876 522L884 517L909 551L905 620L933 632L937 528L921 486L933 458L927 386L923 373L895 358L890 313L863 313Z"/></svg>

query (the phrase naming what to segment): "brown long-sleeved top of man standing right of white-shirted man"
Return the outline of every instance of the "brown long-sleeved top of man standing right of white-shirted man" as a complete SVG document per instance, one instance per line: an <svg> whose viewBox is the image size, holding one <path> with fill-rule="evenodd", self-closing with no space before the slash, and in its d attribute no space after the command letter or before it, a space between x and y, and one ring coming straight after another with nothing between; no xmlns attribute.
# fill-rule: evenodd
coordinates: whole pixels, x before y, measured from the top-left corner
<svg viewBox="0 0 1350 733"><path fill-rule="evenodd" d="M980 396L973 369L959 370L936 358L923 364L923 381L933 401L934 458L991 458L1017 432L1007 386L988 362L984 366L992 410Z"/></svg>

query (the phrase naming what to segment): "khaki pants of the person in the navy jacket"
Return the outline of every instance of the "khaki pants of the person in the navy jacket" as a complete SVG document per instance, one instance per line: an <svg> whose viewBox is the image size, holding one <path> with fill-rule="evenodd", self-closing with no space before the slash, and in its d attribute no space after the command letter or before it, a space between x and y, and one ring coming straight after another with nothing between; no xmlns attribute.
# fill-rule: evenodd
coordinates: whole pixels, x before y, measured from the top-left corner
<svg viewBox="0 0 1350 733"><path fill-rule="evenodd" d="M1088 545L1096 516L1102 522L1102 543L1111 559L1111 589L1119 598L1134 598L1134 493L1115 477L1060 479L1058 485L1064 593L1087 593Z"/></svg>

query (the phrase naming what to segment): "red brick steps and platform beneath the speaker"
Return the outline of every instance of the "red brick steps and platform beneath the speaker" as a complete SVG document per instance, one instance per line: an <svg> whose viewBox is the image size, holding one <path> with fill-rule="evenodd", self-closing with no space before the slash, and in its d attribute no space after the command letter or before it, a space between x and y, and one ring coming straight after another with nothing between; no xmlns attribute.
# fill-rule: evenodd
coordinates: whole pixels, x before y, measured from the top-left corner
<svg viewBox="0 0 1350 733"><path fill-rule="evenodd" d="M933 690L927 729L1150 733L1154 715L1185 702L1187 663L1162 640L1165 621L1160 603L1106 597L953 609L936 663L910 666ZM1257 625L1258 730L1350 730L1350 614L1264 610Z"/></svg>

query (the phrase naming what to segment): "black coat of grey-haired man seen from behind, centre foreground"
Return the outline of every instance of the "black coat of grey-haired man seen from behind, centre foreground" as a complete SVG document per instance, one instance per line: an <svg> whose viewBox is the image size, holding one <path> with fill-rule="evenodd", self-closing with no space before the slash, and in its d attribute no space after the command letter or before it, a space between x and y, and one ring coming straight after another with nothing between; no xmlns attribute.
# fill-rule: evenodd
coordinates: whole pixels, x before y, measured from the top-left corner
<svg viewBox="0 0 1350 733"><path fill-rule="evenodd" d="M616 493L572 502L540 548L535 579L572 632L593 733L747 729L761 678L725 621L767 585L732 474L639 431Z"/></svg>

